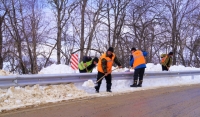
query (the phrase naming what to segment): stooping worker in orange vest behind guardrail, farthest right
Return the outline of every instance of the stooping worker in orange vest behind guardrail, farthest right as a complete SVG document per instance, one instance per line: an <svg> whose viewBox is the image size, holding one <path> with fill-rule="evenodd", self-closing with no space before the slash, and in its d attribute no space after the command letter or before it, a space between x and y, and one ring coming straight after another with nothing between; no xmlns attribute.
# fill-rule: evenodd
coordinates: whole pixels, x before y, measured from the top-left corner
<svg viewBox="0 0 200 117"><path fill-rule="evenodd" d="M172 56L173 52L169 52L168 54L161 54L161 62L162 71L168 71L170 66L172 65Z"/></svg>

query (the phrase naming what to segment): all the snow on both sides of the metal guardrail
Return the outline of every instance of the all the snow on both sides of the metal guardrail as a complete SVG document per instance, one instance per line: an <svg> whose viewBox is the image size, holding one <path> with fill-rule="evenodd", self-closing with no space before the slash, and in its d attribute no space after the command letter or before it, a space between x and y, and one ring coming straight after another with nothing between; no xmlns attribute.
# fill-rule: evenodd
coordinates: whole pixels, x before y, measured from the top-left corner
<svg viewBox="0 0 200 117"><path fill-rule="evenodd" d="M113 67L114 69L115 67ZM124 72L129 70L128 68L117 69L113 72ZM184 70L200 70L200 68L184 67L182 65L172 66L169 71L184 71ZM134 71L131 69L130 71ZM151 72L163 72L161 65L154 65L148 63L145 71ZM93 70L96 73L97 69ZM167 72L167 71L164 71ZM47 68L43 68L39 74L65 74L65 73L79 73L78 70L74 71L68 65L56 65L52 64ZM1 76L12 75L9 72L0 70ZM167 87L167 86L182 86L200 83L200 76L168 76L164 78L144 78L143 86L141 88L130 88L132 80L113 80L112 81L112 93L106 92L105 80L102 81L100 93L95 93L92 80L88 80L84 83L75 84L61 84L61 85L48 85L39 86L34 85L32 87L10 87L8 89L0 89L0 112L6 110L13 110L17 108L25 108L27 106L38 106L40 104L57 103L63 100L73 100L79 98L90 98L100 96L111 96L120 93L148 90L152 88ZM89 84L87 84L89 83ZM86 86L90 87L86 87Z"/></svg>

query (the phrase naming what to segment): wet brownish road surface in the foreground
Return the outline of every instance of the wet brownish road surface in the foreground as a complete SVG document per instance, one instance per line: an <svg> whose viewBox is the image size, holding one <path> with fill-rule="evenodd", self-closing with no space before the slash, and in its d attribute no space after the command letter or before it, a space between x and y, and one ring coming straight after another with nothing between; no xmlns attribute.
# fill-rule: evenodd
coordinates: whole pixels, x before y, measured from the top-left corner
<svg viewBox="0 0 200 117"><path fill-rule="evenodd" d="M200 85L60 102L4 112L0 117L200 117Z"/></svg>

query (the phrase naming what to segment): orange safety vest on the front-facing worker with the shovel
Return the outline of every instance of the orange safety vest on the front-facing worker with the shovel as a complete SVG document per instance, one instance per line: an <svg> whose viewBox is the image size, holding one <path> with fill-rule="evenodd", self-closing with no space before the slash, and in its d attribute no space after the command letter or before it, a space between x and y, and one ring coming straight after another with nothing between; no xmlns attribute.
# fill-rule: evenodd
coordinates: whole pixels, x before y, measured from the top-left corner
<svg viewBox="0 0 200 117"><path fill-rule="evenodd" d="M102 56L99 58L99 62L98 62L98 66L97 66L97 70L101 73L104 73L103 68L102 68L102 63L101 60L102 59L106 59L107 60L107 73L111 73L112 72L112 64L113 61L115 59L115 54L113 53L112 58L109 58L106 56L106 53L102 54Z"/></svg>

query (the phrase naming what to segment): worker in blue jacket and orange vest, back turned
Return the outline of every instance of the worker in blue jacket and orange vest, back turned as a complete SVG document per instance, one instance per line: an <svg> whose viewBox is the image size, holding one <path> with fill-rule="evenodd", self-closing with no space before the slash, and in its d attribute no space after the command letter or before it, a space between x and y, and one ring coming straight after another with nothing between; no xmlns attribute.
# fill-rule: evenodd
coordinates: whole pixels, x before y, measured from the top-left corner
<svg viewBox="0 0 200 117"><path fill-rule="evenodd" d="M147 56L146 51L136 50L136 48L131 48L132 58L130 60L130 66L135 70L134 71L134 80L133 84L130 87L142 87L143 75L146 68L145 56ZM139 82L138 82L139 77ZM137 84L138 82L138 84Z"/></svg>

